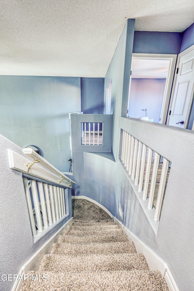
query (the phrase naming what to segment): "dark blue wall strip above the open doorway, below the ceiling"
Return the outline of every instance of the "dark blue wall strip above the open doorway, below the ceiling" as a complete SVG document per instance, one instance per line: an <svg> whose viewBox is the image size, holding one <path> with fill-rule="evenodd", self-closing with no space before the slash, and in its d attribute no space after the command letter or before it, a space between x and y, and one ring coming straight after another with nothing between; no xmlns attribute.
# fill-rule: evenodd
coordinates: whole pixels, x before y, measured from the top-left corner
<svg viewBox="0 0 194 291"><path fill-rule="evenodd" d="M133 53L178 54L181 32L135 31Z"/></svg>

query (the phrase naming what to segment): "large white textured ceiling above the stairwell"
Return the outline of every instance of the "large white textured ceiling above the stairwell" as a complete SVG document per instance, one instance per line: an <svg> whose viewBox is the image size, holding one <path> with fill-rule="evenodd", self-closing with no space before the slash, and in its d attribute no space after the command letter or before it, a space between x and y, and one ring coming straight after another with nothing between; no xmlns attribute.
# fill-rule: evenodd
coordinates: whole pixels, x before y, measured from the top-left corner
<svg viewBox="0 0 194 291"><path fill-rule="evenodd" d="M104 77L126 18L182 32L193 0L2 0L0 75Z"/></svg>

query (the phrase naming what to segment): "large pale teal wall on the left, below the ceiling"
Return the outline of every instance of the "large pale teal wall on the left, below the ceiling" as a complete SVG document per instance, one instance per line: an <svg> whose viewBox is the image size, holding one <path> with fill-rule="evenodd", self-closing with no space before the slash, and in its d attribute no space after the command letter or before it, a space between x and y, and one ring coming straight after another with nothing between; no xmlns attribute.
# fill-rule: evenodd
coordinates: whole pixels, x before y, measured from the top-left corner
<svg viewBox="0 0 194 291"><path fill-rule="evenodd" d="M69 172L69 112L81 111L80 78L0 76L0 133Z"/></svg>

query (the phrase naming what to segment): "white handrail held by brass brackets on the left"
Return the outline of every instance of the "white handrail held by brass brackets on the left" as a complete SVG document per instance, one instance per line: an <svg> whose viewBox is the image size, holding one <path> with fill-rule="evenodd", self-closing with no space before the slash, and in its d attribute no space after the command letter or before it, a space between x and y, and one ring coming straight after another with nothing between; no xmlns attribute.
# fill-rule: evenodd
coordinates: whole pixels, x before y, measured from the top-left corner
<svg viewBox="0 0 194 291"><path fill-rule="evenodd" d="M39 163L44 166L45 168L49 169L53 173L59 175L62 178L65 178L66 181L72 182L72 184L76 184L73 180L69 179L67 176L65 176L62 172L60 172L57 168L55 168L52 164L50 164L47 160L45 160L43 157L38 155L37 152L35 152L31 148L24 148L22 149L22 152L27 155L28 157L32 158L33 160L38 160Z"/></svg>

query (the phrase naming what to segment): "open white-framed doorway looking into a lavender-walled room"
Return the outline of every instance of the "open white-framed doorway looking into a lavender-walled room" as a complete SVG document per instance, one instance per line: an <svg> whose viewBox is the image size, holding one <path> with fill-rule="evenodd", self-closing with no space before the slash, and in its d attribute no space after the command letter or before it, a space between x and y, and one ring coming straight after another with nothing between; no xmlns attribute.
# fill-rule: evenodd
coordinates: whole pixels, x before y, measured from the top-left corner
<svg viewBox="0 0 194 291"><path fill-rule="evenodd" d="M166 123L177 55L133 54L128 117Z"/></svg>

